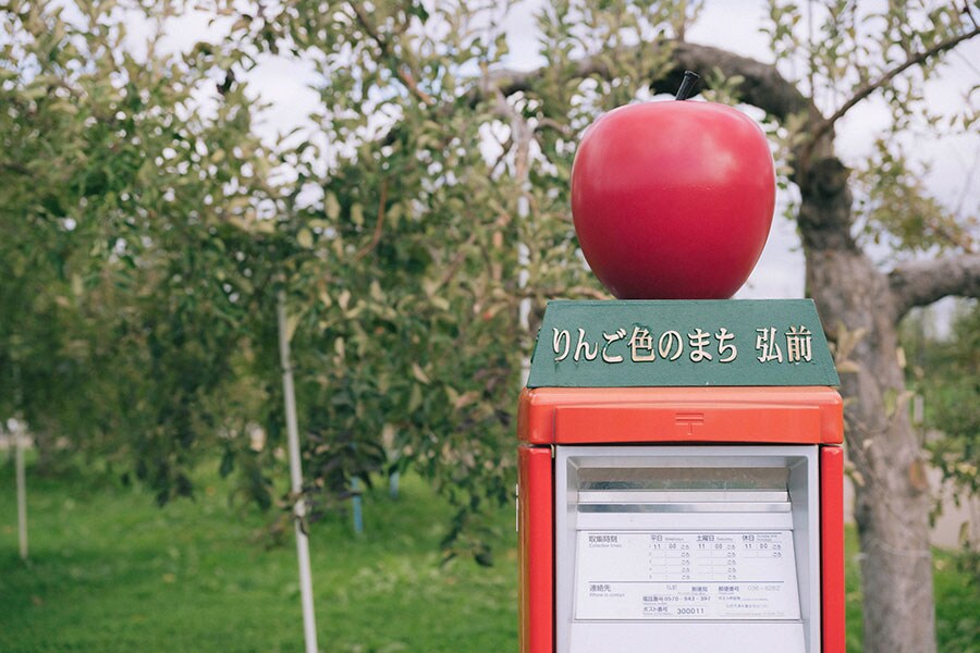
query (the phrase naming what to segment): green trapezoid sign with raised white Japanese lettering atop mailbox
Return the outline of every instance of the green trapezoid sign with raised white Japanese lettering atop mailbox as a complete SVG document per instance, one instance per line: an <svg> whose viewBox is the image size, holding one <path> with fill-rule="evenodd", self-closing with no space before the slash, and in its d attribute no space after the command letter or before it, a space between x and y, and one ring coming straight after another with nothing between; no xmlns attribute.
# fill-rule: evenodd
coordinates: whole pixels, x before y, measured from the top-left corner
<svg viewBox="0 0 980 653"><path fill-rule="evenodd" d="M838 385L809 299L550 301L528 387Z"/></svg>

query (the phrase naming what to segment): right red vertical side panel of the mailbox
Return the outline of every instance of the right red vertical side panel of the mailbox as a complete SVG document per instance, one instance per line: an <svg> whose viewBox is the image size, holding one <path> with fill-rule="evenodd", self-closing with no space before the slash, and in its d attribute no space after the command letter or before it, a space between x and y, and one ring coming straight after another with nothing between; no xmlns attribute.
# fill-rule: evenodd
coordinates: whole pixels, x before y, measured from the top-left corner
<svg viewBox="0 0 980 653"><path fill-rule="evenodd" d="M820 569L823 653L844 653L844 451L820 448Z"/></svg>

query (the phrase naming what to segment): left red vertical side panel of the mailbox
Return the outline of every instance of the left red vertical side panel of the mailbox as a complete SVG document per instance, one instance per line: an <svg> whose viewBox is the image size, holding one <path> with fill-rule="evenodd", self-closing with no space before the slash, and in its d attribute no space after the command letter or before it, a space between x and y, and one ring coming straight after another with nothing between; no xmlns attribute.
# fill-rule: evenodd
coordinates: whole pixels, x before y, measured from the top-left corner
<svg viewBox="0 0 980 653"><path fill-rule="evenodd" d="M551 447L520 446L517 449L520 653L554 651L552 469Z"/></svg>

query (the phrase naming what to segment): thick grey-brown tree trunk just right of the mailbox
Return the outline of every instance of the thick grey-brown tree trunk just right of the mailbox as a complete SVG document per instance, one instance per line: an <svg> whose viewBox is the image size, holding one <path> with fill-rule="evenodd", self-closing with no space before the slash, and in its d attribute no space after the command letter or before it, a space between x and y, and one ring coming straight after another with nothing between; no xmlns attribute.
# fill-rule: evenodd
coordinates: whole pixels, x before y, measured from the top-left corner
<svg viewBox="0 0 980 653"><path fill-rule="evenodd" d="M800 183L808 294L835 343L855 467L867 653L934 653L929 485L896 356L901 312L852 235L847 171L826 158ZM846 288L846 291L842 291Z"/></svg>

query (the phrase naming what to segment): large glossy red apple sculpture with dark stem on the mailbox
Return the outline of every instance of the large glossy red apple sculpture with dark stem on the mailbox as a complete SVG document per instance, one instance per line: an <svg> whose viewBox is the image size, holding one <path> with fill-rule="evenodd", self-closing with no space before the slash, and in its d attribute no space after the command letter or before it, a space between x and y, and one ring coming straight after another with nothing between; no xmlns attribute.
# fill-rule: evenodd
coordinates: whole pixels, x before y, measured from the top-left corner
<svg viewBox="0 0 980 653"><path fill-rule="evenodd" d="M614 109L586 131L572 167L581 251L621 299L731 297L762 254L774 206L765 135L713 102Z"/></svg>

